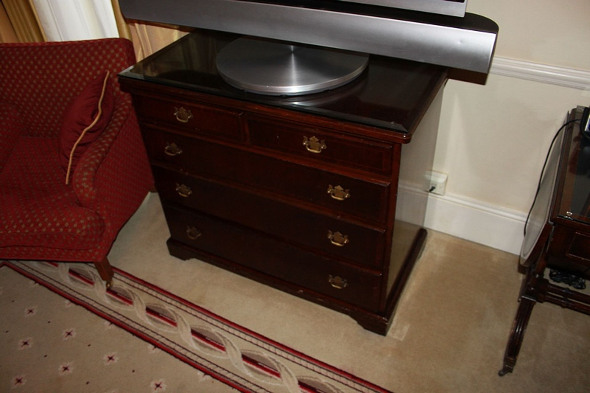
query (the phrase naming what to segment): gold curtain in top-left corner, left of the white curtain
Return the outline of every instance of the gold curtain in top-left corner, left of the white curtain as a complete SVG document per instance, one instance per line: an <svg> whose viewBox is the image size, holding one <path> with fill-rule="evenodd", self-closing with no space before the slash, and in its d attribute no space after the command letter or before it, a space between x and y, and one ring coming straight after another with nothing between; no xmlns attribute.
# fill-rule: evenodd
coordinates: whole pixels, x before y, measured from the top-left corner
<svg viewBox="0 0 590 393"><path fill-rule="evenodd" d="M6 16L10 22L14 35L18 42L43 42L47 41L45 33L41 28L39 18L35 7L31 4L31 0L2 0L4 6L1 11L6 11ZM13 39L14 36L8 30L8 25L0 15L2 21L2 40L5 37L5 30L8 39ZM6 25L6 28L5 28ZM14 41L13 41L14 42Z"/></svg>

